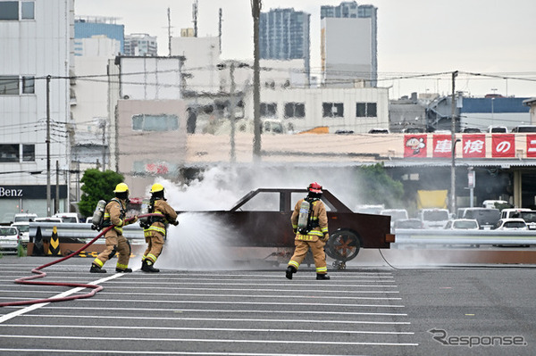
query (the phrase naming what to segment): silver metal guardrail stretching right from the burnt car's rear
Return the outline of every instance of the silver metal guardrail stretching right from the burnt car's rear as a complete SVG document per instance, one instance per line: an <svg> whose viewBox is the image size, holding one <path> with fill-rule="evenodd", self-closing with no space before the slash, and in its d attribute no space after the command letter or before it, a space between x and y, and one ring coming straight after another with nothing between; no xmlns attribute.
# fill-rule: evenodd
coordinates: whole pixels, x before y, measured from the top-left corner
<svg viewBox="0 0 536 356"><path fill-rule="evenodd" d="M398 229L395 243L405 244L536 244L536 230Z"/></svg>

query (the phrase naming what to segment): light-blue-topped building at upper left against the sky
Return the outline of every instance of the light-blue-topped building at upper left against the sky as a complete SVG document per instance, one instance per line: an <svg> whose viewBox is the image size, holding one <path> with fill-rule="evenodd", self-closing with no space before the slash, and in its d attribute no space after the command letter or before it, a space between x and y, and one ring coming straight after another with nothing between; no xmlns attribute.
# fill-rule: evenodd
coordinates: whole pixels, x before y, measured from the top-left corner
<svg viewBox="0 0 536 356"><path fill-rule="evenodd" d="M119 19L116 17L78 16L74 20L74 55L84 55L83 38L101 35L119 41L119 51L122 54L125 43L125 26L118 25L117 20Z"/></svg>

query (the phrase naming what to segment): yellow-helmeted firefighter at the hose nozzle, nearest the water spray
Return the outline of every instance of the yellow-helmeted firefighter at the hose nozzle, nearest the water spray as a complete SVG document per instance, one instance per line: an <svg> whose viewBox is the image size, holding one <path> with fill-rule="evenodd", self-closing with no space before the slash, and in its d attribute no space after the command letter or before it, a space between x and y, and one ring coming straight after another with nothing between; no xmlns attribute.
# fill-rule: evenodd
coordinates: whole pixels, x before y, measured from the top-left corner
<svg viewBox="0 0 536 356"><path fill-rule="evenodd" d="M160 272L155 269L155 262L162 253L165 233L169 224L179 225L177 221L177 212L166 202L163 194L163 186L155 183L151 186L151 200L149 212L158 214L148 218L147 224L143 229L147 242L147 250L141 258L141 270L144 272Z"/></svg>

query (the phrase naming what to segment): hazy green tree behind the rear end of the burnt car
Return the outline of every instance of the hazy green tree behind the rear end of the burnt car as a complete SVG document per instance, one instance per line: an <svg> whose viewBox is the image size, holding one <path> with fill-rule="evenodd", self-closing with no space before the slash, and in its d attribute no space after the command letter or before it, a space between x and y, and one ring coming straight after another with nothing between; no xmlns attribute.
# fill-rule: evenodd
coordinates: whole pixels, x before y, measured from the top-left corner
<svg viewBox="0 0 536 356"><path fill-rule="evenodd" d="M358 170L360 195L365 203L395 207L404 196L402 182L390 178L382 163L361 166Z"/></svg>

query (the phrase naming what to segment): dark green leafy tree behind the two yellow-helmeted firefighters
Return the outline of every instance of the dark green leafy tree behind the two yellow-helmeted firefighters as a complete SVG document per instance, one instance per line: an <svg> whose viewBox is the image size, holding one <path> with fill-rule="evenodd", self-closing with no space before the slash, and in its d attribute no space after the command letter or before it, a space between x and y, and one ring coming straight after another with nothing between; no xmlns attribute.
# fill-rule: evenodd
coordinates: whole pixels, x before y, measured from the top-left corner
<svg viewBox="0 0 536 356"><path fill-rule="evenodd" d="M84 216L92 216L96 203L99 200L106 202L113 198L113 189L123 181L123 176L113 170L86 170L80 179L84 185L80 188L83 192L80 197L80 213Z"/></svg>

